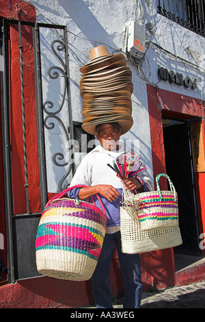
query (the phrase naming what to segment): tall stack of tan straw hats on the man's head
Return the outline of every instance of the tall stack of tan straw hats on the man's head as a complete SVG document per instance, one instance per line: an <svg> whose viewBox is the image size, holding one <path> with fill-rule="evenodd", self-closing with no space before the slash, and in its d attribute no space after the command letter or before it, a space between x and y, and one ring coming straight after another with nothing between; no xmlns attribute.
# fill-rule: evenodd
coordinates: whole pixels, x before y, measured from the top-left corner
<svg viewBox="0 0 205 322"><path fill-rule="evenodd" d="M90 134L96 125L118 123L120 135L133 125L131 94L132 72L124 55L110 55L105 46L90 51L89 64L81 67L81 97L83 97L83 129Z"/></svg>

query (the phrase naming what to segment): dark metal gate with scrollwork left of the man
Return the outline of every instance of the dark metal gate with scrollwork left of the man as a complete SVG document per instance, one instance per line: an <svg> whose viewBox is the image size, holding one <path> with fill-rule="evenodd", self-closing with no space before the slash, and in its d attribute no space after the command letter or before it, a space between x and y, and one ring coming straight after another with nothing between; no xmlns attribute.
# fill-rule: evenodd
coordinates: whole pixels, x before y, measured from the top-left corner
<svg viewBox="0 0 205 322"><path fill-rule="evenodd" d="M3 71L1 72L3 172L8 277L11 283L39 275L35 257L37 227L42 209L48 199L48 193L64 190L70 184L74 173L74 162L70 161L73 126L66 26L3 20L2 27L3 42L0 54L3 56ZM21 111L18 110L18 114L21 113L21 120L17 126L12 119L13 112L11 112L10 64L13 58L10 53L10 32L18 34L18 59L20 60L18 76ZM24 64L24 57L27 53L25 53L23 43L26 37L29 37L29 46L33 48L33 57L30 57L30 60L34 66L35 84L33 82L29 85L35 86L36 106L31 106L31 103L28 106L29 95L25 93L24 76L27 66ZM31 109L32 113L36 113L36 130L27 129L27 113L28 110L31 113ZM23 145L20 151L23 157L20 162L23 163L24 177L20 190L23 196L22 203L25 203L22 207L25 207L25 211L22 213L16 212L15 208L16 192L13 176L17 168L12 161L12 153L14 153L12 142L15 138L12 125L21 128L20 131L23 133ZM32 158L27 156L33 135L32 130L38 134L38 151L32 151L35 158L38 154L39 177L36 179L36 186L33 184L35 191L39 190L40 205L38 207L35 204L38 201L32 199L34 197L29 191L31 189L29 177L32 177L29 171L32 166L35 166L31 162ZM37 186L39 189L36 188ZM38 211L33 212L30 209L31 206L34 209L38 208Z"/></svg>

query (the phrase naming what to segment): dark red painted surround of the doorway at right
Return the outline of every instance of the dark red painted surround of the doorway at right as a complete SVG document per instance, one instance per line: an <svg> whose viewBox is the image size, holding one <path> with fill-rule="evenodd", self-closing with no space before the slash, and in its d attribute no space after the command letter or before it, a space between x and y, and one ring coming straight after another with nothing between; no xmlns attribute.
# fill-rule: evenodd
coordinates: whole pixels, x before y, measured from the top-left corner
<svg viewBox="0 0 205 322"><path fill-rule="evenodd" d="M190 92L191 94L191 92ZM148 110L150 118L150 138L152 147L152 166L154 178L159 173L166 173L165 149L163 142L163 116L172 119L190 121L200 119L204 135L204 109L202 101L191 96L180 95L169 90L162 90L147 84ZM203 187L205 173L195 173L195 190L197 194L197 210L200 234L205 232L205 213ZM156 182L154 182L156 189ZM161 189L167 190L167 182L161 180ZM199 236L200 238L200 236ZM203 253L203 250L202 250Z"/></svg>

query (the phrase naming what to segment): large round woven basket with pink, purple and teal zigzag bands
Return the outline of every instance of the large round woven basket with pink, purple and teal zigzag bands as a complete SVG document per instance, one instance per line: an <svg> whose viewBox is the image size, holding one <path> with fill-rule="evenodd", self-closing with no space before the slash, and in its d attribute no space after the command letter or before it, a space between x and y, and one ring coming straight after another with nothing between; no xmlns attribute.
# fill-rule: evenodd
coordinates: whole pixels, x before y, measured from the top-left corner
<svg viewBox="0 0 205 322"><path fill-rule="evenodd" d="M90 280L105 237L107 216L94 203L62 198L46 204L36 236L36 266L42 275L62 280Z"/></svg>

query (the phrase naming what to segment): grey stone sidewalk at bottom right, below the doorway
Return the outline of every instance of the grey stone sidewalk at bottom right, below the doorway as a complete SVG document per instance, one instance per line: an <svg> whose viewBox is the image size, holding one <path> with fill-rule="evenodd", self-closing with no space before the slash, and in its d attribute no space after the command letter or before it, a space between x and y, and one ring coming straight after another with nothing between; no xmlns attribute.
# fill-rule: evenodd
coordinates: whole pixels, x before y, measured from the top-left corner
<svg viewBox="0 0 205 322"><path fill-rule="evenodd" d="M123 308L123 299L113 308ZM205 308L205 280L142 294L141 308Z"/></svg>

